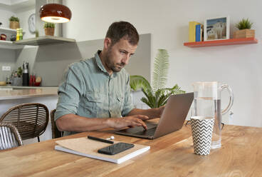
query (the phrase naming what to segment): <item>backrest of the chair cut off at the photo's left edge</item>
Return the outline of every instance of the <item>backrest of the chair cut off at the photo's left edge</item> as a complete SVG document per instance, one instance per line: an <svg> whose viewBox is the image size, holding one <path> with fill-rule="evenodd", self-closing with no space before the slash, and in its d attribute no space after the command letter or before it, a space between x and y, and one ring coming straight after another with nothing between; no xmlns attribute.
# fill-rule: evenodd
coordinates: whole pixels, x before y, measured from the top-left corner
<svg viewBox="0 0 262 177"><path fill-rule="evenodd" d="M19 131L11 123L0 123L0 150L23 146Z"/></svg>

